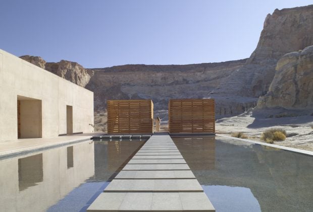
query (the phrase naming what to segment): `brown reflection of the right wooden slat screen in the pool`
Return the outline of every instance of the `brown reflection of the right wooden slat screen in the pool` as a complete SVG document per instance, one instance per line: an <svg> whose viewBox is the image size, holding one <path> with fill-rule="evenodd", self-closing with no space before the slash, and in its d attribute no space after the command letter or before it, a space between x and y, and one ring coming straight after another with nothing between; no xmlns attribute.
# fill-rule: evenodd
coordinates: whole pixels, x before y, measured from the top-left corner
<svg viewBox="0 0 313 212"><path fill-rule="evenodd" d="M172 139L191 170L215 168L215 136L172 137Z"/></svg>

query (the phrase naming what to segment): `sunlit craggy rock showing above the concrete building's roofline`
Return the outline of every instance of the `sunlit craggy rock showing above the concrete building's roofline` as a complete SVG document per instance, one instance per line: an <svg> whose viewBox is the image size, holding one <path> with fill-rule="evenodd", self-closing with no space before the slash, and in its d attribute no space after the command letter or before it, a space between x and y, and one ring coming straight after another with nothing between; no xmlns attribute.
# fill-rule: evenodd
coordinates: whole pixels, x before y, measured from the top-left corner
<svg viewBox="0 0 313 212"><path fill-rule="evenodd" d="M46 62L41 57L24 55L20 58L37 65L43 69L48 70L51 73L58 75L72 83L75 83L81 87L85 87L89 82L93 72L85 69L77 62L71 62L67 60L61 60L60 62Z"/></svg>

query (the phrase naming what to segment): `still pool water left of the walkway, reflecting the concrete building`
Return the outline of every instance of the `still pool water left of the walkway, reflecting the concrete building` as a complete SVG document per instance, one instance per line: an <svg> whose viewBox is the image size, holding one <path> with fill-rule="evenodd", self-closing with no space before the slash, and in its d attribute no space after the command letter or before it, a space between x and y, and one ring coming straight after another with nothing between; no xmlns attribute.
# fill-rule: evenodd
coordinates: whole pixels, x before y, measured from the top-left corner
<svg viewBox="0 0 313 212"><path fill-rule="evenodd" d="M85 211L143 144L88 140L0 160L0 211Z"/></svg>

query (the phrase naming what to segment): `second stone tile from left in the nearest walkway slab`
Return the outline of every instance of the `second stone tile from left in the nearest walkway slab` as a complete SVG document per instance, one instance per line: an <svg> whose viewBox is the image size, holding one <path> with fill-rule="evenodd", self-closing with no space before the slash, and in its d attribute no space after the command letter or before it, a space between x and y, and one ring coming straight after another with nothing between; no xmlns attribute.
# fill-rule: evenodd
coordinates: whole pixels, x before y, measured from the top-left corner
<svg viewBox="0 0 313 212"><path fill-rule="evenodd" d="M119 210L150 210L152 192L127 193Z"/></svg>

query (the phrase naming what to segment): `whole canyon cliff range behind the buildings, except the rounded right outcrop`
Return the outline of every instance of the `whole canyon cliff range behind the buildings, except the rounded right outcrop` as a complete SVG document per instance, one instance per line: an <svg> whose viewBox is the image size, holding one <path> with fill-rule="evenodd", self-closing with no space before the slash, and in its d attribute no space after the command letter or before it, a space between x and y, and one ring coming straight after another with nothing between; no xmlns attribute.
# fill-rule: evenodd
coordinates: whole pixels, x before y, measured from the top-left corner
<svg viewBox="0 0 313 212"><path fill-rule="evenodd" d="M217 117L233 116L254 107L258 97L267 94L283 55L313 45L312 26L313 6L275 10L267 15L248 59L219 63L85 69L70 61L22 58L93 91L95 110L102 111L108 99L152 99L156 111L166 117L170 98L215 98ZM279 103L268 102L271 106Z"/></svg>

